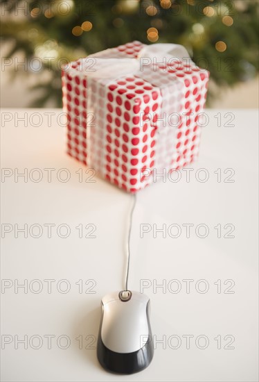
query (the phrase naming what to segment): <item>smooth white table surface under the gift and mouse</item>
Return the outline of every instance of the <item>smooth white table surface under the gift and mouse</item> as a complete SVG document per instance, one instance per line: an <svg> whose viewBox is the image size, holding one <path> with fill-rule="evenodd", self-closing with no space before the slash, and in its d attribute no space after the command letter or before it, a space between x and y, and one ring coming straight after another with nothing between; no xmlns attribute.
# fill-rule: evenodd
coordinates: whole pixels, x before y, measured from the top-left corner
<svg viewBox="0 0 259 382"><path fill-rule="evenodd" d="M17 121L26 113L27 127ZM65 153L64 127L57 122L60 113L57 109L2 110L1 165L5 174L15 174L15 168L19 172L27 168L29 173L38 168L44 176L39 183L30 177L27 183L21 177L15 181L14 175L2 178L1 380L258 381L256 110L206 110L209 123L203 129L190 182L181 172L178 183L159 182L137 194L129 286L140 290L141 282L150 285L144 292L151 300L157 349L150 367L130 376L105 372L95 349L100 299L122 288L130 195L100 178L85 183L84 174L83 182L78 181L76 172L86 167ZM231 117L226 113L233 113L233 126L218 127L218 113L222 125ZM63 124L64 119L60 120ZM44 168L54 169L50 182ZM71 174L66 183L57 179L64 176L62 168ZM195 174L202 178L201 168L209 174L205 183L195 178ZM229 168L235 172L230 178L233 182L225 183L231 172L224 174L224 170ZM214 173L217 169L222 174L220 182ZM37 178L37 172L30 174ZM33 226L28 238L21 232L15 238L15 227L24 224L28 229L39 226ZM46 224L55 224L51 238ZM70 227L67 238L58 235L65 235L60 224ZM79 224L94 224L96 238L79 238L75 228ZM182 231L179 238L168 233L166 238L162 233L154 238L152 232L141 238L141 224L150 224L152 231L153 224L157 228L166 224L167 229L179 224ZM183 224L194 224L190 238L186 238ZM208 226L206 238L195 235L199 224ZM234 238L217 238L214 227L218 224L222 236L231 227L224 226L233 224ZM8 227L12 231L4 233ZM37 227L42 228L40 238L33 237L39 232ZM174 229L172 235L176 235ZM48 293L44 280L51 279ZM193 280L189 293L186 279ZM25 280L27 293L17 288ZM166 290L156 290L155 283L163 280ZM177 281L170 283L172 280ZM62 293L68 285L70 290ZM181 290L172 293L177 285ZM202 293L205 285L208 292ZM217 289L220 285L221 291ZM42 291L37 293L39 287ZM226 293L228 290L233 293ZM192 336L189 349L186 335ZM28 349L19 342L23 338ZM159 342L162 338L164 344Z"/></svg>

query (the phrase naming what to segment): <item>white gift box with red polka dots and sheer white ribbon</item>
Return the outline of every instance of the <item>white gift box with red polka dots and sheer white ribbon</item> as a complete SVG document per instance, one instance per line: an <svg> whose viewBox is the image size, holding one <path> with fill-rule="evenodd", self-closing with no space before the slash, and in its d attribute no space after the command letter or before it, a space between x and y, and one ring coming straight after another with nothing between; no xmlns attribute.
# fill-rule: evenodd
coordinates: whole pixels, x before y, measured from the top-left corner
<svg viewBox="0 0 259 382"><path fill-rule="evenodd" d="M127 192L190 165L208 76L177 44L135 41L65 65L67 153Z"/></svg>

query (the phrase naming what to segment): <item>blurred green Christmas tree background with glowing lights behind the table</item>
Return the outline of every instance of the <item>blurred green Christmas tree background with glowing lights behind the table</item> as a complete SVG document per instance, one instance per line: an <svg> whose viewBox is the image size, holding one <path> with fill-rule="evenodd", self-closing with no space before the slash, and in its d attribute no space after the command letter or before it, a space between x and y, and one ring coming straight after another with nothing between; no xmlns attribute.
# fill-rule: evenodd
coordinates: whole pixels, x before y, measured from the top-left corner
<svg viewBox="0 0 259 382"><path fill-rule="evenodd" d="M2 0L1 106L62 106L62 65L132 40L183 44L209 107L258 107L258 0Z"/></svg>

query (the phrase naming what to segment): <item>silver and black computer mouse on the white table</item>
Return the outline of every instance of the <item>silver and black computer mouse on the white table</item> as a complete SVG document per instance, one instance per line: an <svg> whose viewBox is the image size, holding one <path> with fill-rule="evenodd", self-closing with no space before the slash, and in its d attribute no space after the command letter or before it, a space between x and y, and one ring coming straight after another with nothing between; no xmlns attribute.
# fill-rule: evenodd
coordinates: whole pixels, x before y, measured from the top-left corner
<svg viewBox="0 0 259 382"><path fill-rule="evenodd" d="M119 374L148 367L154 354L150 299L130 290L113 292L102 298L101 308L97 342L100 365Z"/></svg>

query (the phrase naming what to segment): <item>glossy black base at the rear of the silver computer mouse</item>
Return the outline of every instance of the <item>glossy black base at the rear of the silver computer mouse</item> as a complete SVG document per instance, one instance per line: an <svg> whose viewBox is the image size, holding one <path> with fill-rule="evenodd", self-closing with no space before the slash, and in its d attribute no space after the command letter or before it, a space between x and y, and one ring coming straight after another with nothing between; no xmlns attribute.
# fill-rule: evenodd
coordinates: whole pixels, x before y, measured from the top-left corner
<svg viewBox="0 0 259 382"><path fill-rule="evenodd" d="M109 350L98 336L97 358L100 365L109 372L118 374L133 374L141 372L150 365L154 355L152 337L139 350L133 353L116 353Z"/></svg>

